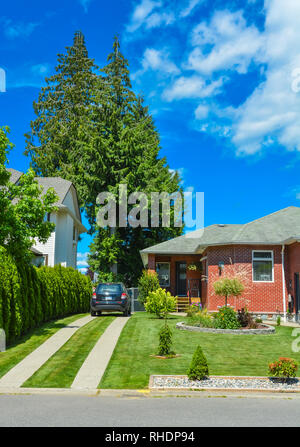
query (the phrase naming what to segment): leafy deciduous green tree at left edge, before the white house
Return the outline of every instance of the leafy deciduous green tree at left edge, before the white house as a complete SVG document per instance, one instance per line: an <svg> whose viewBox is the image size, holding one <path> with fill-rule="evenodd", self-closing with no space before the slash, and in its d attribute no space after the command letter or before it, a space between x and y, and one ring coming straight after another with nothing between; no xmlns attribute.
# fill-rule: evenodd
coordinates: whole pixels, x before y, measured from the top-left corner
<svg viewBox="0 0 300 447"><path fill-rule="evenodd" d="M17 185L11 183L5 165L9 150L8 128L0 128L0 247L15 260L29 259L30 248L37 239L45 243L54 224L45 221L46 213L56 209L58 197L53 188L42 195L42 188L30 169Z"/></svg>

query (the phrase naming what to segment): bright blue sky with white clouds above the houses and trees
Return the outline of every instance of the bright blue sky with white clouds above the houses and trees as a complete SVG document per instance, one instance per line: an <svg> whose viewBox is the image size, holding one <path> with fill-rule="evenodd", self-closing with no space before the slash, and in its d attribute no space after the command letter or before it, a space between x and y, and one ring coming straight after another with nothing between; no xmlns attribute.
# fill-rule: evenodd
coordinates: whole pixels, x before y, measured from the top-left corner
<svg viewBox="0 0 300 447"><path fill-rule="evenodd" d="M134 89L183 185L205 194L205 225L244 223L300 200L300 2L15 0L1 5L0 125L25 170L24 133L57 53L86 38L103 66L118 34ZM79 245L85 267L90 238Z"/></svg>

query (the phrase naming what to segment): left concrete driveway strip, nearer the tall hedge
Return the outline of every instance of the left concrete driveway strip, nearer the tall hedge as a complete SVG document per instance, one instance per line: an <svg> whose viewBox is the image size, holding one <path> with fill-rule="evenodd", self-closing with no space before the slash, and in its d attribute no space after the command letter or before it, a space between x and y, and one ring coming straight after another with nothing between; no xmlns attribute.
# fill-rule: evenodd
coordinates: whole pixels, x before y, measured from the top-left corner
<svg viewBox="0 0 300 447"><path fill-rule="evenodd" d="M68 326L57 331L52 337L48 338L42 345L35 349L31 354L25 357L14 368L8 371L0 379L1 388L20 387L28 380L56 351L58 351L75 332L89 323L95 317L90 315L73 321Z"/></svg>

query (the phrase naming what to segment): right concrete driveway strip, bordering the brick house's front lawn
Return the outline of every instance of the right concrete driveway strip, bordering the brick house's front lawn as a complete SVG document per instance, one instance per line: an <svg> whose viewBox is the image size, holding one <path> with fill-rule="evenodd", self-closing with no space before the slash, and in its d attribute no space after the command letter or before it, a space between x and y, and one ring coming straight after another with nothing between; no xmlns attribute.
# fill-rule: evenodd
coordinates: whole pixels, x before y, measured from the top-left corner
<svg viewBox="0 0 300 447"><path fill-rule="evenodd" d="M96 389L106 370L123 327L130 317L117 317L99 338L71 385L73 389Z"/></svg>

